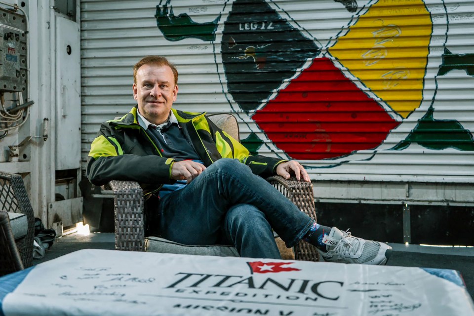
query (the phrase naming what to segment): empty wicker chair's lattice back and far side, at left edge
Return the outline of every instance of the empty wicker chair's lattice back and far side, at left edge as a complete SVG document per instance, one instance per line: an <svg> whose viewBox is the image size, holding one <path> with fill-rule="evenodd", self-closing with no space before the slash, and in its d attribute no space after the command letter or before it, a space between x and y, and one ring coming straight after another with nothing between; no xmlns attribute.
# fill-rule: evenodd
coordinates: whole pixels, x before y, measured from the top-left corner
<svg viewBox="0 0 474 316"><path fill-rule="evenodd" d="M26 215L28 223L27 234L25 237L15 240L15 242L23 266L25 268L31 267L33 265L35 216L25 189L23 178L19 174L0 171L0 212L2 216L7 215L6 212Z"/></svg>

